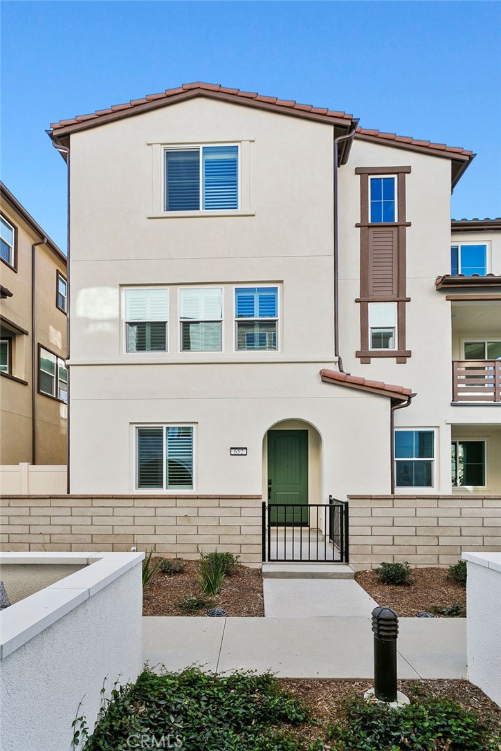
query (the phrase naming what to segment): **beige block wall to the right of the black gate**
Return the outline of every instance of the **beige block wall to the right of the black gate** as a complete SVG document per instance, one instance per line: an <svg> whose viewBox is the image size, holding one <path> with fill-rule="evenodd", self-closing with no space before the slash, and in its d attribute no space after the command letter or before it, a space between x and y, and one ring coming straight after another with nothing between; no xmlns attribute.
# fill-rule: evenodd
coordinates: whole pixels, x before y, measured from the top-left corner
<svg viewBox="0 0 501 751"><path fill-rule="evenodd" d="M462 550L501 551L501 496L349 496L350 564L450 566Z"/></svg>

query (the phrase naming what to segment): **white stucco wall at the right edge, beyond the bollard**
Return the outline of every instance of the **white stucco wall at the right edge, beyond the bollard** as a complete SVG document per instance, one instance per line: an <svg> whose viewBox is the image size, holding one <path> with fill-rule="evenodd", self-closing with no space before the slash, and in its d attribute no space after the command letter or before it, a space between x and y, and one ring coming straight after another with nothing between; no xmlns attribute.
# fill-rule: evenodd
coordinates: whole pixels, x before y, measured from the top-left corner
<svg viewBox="0 0 501 751"><path fill-rule="evenodd" d="M501 707L501 553L463 553L468 678Z"/></svg>

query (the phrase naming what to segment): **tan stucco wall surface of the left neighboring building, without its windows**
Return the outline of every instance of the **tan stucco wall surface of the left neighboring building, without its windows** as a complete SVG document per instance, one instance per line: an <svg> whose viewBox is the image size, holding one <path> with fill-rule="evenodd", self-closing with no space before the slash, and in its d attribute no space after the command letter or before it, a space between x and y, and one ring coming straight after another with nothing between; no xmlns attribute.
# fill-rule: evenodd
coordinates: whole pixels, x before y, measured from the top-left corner
<svg viewBox="0 0 501 751"><path fill-rule="evenodd" d="M0 315L28 331L13 339L12 375L22 382L0 378L0 464L11 465L33 460L32 243L43 238L7 201L2 201L2 213L17 228L17 273L1 264L2 285L13 294L0 300ZM38 246L35 268L35 341L65 358L66 316L56 307L56 271L66 277L65 262L47 246ZM67 407L41 394L35 399L36 463L63 464L66 462Z"/></svg>

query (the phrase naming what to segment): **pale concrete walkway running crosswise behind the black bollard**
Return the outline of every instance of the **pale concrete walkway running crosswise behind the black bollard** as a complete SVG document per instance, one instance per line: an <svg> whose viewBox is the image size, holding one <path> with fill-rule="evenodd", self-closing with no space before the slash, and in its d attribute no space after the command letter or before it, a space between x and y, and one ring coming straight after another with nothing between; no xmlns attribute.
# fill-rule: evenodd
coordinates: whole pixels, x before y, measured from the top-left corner
<svg viewBox="0 0 501 751"><path fill-rule="evenodd" d="M466 678L466 619L400 618L399 625L400 678ZM373 633L369 615L145 617L143 659L168 670L201 665L289 678L372 678Z"/></svg>

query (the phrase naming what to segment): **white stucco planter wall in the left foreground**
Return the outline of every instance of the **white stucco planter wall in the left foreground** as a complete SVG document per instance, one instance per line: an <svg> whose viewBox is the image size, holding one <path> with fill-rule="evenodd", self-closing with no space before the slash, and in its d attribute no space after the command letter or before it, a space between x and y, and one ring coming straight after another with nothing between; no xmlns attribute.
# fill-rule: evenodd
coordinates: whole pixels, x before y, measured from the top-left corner
<svg viewBox="0 0 501 751"><path fill-rule="evenodd" d="M2 566L89 564L0 614L2 751L70 751L77 710L92 729L104 679L109 694L117 679L137 678L143 557L0 553Z"/></svg>

